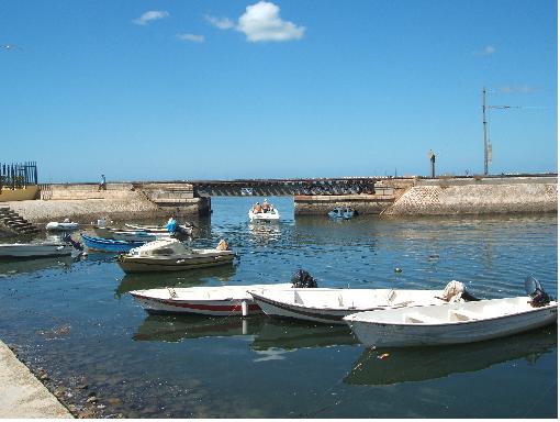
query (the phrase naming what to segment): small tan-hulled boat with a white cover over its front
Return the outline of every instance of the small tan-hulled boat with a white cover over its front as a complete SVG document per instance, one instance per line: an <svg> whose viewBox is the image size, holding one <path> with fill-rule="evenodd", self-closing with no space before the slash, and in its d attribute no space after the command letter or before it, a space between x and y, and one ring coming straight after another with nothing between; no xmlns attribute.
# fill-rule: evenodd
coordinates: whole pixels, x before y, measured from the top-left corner
<svg viewBox="0 0 560 422"><path fill-rule="evenodd" d="M231 264L234 257L225 241L216 248L191 249L177 238L161 238L120 255L117 263L125 273L179 271Z"/></svg>

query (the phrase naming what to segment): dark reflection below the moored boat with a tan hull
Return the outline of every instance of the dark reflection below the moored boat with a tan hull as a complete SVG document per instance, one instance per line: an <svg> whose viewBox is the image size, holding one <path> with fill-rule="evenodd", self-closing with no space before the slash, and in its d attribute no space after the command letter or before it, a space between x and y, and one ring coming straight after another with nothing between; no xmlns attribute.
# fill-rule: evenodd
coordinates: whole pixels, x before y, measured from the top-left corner
<svg viewBox="0 0 560 422"><path fill-rule="evenodd" d="M161 287L192 287L208 281L227 282L235 275L236 265L223 265L212 268L197 268L169 273L126 274L115 289L117 297L131 291L157 289Z"/></svg>

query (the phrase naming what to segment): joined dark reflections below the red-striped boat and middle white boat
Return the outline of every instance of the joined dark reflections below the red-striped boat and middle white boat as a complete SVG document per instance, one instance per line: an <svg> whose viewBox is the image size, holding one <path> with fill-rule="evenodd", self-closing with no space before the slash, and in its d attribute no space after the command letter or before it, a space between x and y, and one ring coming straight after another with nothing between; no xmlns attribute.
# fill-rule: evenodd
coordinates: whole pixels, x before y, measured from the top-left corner
<svg viewBox="0 0 560 422"><path fill-rule="evenodd" d="M133 335L135 341L180 342L189 338L253 336L254 351L354 345L358 341L345 325L329 326L266 315L208 318L201 315L148 315Z"/></svg>

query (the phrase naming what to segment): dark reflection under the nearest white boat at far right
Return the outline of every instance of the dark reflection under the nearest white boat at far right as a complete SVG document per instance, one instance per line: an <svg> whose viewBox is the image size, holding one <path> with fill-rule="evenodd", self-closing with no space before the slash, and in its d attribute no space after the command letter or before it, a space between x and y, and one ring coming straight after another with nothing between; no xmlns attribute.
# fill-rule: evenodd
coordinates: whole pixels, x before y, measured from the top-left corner
<svg viewBox="0 0 560 422"><path fill-rule="evenodd" d="M344 382L393 385L470 373L508 360L531 364L557 347L558 329L549 326L525 334L449 347L414 347L376 351L366 348ZM383 357L383 354L389 356Z"/></svg>

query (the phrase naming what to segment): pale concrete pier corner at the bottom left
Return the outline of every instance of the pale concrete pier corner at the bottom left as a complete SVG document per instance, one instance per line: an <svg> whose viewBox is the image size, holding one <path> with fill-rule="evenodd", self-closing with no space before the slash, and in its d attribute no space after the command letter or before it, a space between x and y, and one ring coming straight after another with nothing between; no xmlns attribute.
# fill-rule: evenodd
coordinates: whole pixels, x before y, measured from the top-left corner
<svg viewBox="0 0 560 422"><path fill-rule="evenodd" d="M0 418L74 418L1 341Z"/></svg>

